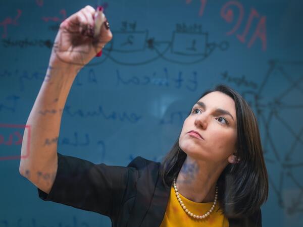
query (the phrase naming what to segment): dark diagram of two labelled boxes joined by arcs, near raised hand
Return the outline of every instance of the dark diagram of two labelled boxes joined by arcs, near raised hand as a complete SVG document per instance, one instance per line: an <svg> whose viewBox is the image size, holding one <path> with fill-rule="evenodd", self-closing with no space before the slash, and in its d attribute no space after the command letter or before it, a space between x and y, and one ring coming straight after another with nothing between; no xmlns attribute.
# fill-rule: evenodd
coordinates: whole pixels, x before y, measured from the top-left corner
<svg viewBox="0 0 303 227"><path fill-rule="evenodd" d="M125 21L122 23L124 24ZM146 65L157 60L191 65L203 62L216 49L225 51L229 48L227 41L221 41L220 43L209 41L209 33L203 32L200 24L187 25L185 23L178 23L176 24L176 29L172 32L171 40L157 40L155 37L148 36L148 30L136 30L136 22L126 23L126 28L123 25L121 30L112 31L113 39L103 48L103 59L92 61L86 64L86 67L100 65L107 60L111 60L118 65L127 66ZM60 37L58 40L60 40ZM22 48L45 46L46 48L51 48L52 45L56 53L68 51L62 50L59 43L53 43L49 40L6 39L2 42L7 48L10 46L20 46ZM95 43L90 48L96 48L98 44ZM85 55L86 52L81 52L81 54ZM131 57L130 54L132 55ZM140 57L137 57L138 54ZM80 62L69 64L83 65Z"/></svg>

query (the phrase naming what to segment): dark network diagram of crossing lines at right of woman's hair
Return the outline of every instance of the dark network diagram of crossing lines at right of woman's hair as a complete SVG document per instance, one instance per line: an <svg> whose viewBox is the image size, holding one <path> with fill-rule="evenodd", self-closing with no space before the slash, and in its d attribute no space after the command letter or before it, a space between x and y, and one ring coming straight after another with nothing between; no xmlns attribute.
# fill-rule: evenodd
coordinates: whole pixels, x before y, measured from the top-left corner
<svg viewBox="0 0 303 227"><path fill-rule="evenodd" d="M258 90L242 92L258 119L270 187L288 215L303 212L303 126L296 120L303 110L302 71L303 61L270 60Z"/></svg>

